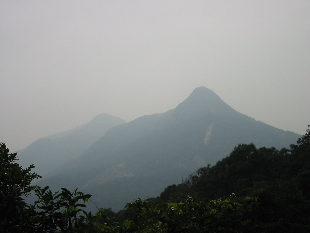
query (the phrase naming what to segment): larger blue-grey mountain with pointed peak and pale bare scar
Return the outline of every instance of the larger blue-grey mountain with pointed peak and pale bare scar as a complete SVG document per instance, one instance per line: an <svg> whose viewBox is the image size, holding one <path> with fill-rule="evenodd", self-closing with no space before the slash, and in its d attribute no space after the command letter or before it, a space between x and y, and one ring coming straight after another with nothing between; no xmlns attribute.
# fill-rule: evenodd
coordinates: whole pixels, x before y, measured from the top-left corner
<svg viewBox="0 0 310 233"><path fill-rule="evenodd" d="M288 147L300 135L247 117L205 87L175 109L114 127L42 184L79 187L100 207L123 208L137 197L157 196L167 186L241 143Z"/></svg>

